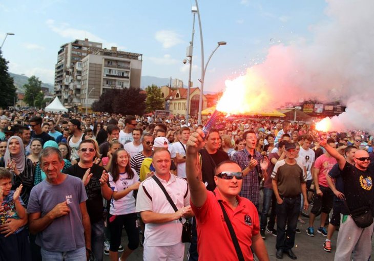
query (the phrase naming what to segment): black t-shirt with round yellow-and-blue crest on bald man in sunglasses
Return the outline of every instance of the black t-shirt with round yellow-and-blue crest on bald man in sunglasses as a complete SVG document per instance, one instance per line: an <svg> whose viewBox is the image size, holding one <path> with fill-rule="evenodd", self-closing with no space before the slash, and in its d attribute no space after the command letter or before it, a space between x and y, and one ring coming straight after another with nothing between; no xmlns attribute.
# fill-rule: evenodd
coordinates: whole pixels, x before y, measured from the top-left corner
<svg viewBox="0 0 374 261"><path fill-rule="evenodd" d="M340 171L340 175L343 180L344 195L349 210L354 211L355 209L370 205L372 209L374 207L372 204L374 199L374 189L372 186L374 180L373 168L367 168L363 171L346 162L344 168ZM339 171L331 176L331 178L337 177L339 177ZM342 214L349 213L342 211Z"/></svg>

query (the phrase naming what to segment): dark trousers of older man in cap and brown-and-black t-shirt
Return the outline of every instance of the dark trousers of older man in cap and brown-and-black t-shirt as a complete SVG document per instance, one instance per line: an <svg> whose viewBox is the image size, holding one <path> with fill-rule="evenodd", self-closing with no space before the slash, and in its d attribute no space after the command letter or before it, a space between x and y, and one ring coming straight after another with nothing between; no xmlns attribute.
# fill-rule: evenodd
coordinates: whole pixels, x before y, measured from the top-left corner
<svg viewBox="0 0 374 261"><path fill-rule="evenodd" d="M295 231L300 213L300 195L295 198L281 198L283 203L277 203L277 244L275 247L277 250L285 251L295 245Z"/></svg>

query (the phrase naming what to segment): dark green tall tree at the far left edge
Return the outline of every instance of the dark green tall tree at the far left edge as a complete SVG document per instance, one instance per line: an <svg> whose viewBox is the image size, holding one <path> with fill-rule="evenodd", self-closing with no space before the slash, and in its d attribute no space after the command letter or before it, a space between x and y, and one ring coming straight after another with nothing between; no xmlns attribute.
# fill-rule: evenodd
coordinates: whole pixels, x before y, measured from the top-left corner
<svg viewBox="0 0 374 261"><path fill-rule="evenodd" d="M0 49L0 107L12 106L17 97L13 78L8 73L8 61L3 58Z"/></svg>

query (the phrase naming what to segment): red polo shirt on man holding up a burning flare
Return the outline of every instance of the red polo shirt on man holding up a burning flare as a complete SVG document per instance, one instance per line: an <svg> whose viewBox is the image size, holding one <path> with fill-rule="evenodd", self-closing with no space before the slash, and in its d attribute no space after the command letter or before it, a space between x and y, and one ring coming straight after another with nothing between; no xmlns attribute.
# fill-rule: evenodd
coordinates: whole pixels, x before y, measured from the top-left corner
<svg viewBox="0 0 374 261"><path fill-rule="evenodd" d="M200 208L191 207L196 217L197 251L199 260L238 260L234 243L224 221L221 206L222 200L218 188L207 191L207 198ZM236 197L239 205L233 210L223 201L223 206L233 225L245 260L253 260L252 236L260 232L258 213L255 205L245 198Z"/></svg>

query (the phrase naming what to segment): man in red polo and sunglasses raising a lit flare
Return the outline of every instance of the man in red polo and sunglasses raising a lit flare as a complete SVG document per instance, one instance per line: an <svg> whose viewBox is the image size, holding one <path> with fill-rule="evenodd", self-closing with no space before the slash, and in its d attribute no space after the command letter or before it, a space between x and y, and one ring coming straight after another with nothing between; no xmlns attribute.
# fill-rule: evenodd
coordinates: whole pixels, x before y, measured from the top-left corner
<svg viewBox="0 0 374 261"><path fill-rule="evenodd" d="M204 134L198 129L187 142L186 176L191 192L191 207L197 221L197 250L201 260L253 260L251 247L259 260L269 260L264 241L260 235L259 218L255 205L239 197L243 175L233 161L224 161L215 168L214 192L207 191L202 182L197 152L204 146ZM263 162L261 164L267 164ZM236 250L230 230L224 220L222 206L232 224L240 253ZM217 247L212 248L215 238Z"/></svg>

